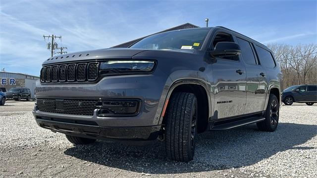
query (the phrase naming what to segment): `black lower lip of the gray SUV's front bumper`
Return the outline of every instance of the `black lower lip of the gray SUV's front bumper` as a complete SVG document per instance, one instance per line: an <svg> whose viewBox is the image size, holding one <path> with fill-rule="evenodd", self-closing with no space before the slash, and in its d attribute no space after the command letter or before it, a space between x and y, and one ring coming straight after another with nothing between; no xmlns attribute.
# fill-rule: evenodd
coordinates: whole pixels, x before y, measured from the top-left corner
<svg viewBox="0 0 317 178"><path fill-rule="evenodd" d="M40 127L50 129L53 132L103 140L155 140L160 133L160 126L101 127L92 121L74 121L40 116L36 116L36 122Z"/></svg>

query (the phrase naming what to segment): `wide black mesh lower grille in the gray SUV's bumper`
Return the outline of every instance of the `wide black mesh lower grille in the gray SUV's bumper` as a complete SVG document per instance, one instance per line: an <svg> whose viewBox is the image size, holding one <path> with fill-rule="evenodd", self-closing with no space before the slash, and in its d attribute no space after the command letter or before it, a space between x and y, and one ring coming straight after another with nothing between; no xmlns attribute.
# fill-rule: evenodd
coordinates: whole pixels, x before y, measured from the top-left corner
<svg viewBox="0 0 317 178"><path fill-rule="evenodd" d="M63 99L63 109L56 109L55 99L38 98L36 105L42 112L93 116L97 99Z"/></svg>

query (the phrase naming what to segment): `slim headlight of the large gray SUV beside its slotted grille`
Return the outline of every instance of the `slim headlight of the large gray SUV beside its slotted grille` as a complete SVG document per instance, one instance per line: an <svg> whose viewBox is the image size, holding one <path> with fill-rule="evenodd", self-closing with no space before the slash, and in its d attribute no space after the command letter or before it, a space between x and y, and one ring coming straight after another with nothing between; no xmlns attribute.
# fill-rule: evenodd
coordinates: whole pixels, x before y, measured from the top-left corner
<svg viewBox="0 0 317 178"><path fill-rule="evenodd" d="M151 73L156 62L147 60L109 60L101 62L101 74Z"/></svg>

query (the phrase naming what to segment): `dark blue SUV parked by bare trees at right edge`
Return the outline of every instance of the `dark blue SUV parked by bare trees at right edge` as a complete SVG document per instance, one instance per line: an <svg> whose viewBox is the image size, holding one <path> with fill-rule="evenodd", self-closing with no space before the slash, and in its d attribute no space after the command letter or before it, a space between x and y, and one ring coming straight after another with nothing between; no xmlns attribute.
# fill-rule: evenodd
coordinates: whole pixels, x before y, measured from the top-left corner
<svg viewBox="0 0 317 178"><path fill-rule="evenodd" d="M311 106L317 102L317 85L291 86L284 89L282 101L286 105L299 102Z"/></svg>

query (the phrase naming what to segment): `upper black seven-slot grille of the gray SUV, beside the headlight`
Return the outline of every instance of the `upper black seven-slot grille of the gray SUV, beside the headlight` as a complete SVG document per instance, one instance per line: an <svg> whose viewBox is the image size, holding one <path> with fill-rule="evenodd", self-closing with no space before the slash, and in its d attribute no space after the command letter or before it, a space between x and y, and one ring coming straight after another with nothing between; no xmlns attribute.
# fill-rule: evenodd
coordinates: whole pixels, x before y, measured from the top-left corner
<svg viewBox="0 0 317 178"><path fill-rule="evenodd" d="M99 76L99 62L60 64L41 69L41 83L94 82Z"/></svg>

